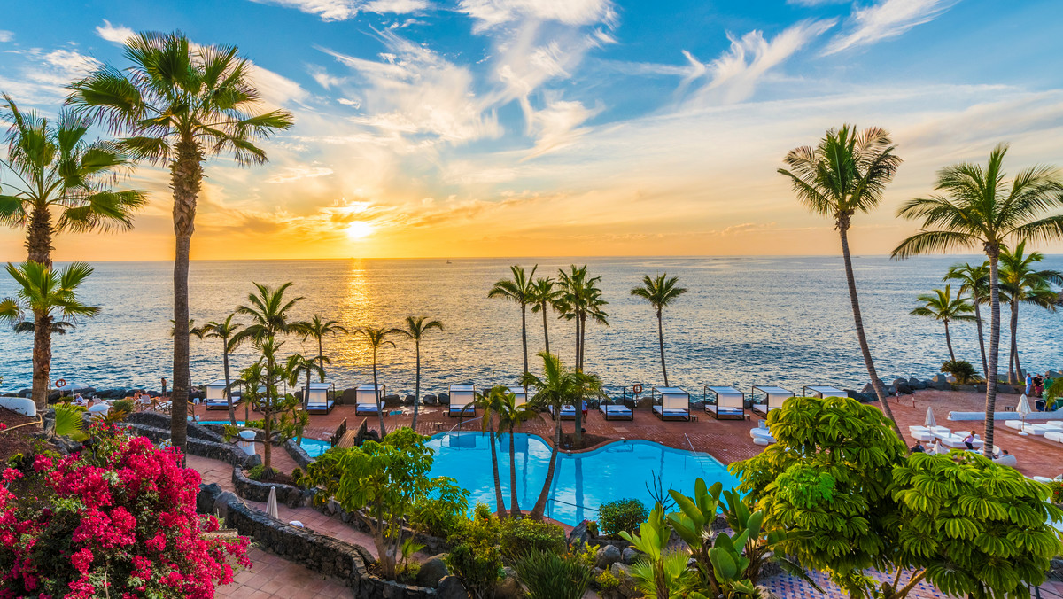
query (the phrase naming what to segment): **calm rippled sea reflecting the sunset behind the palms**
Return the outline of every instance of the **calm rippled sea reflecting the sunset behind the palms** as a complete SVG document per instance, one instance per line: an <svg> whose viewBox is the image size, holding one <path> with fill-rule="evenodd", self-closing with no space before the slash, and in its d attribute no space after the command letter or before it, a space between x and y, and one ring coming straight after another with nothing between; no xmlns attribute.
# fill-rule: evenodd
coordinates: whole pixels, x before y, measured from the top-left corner
<svg viewBox="0 0 1063 599"><path fill-rule="evenodd" d="M857 284L872 353L883 379L928 377L947 359L940 323L909 316L915 296L941 285L952 263L978 256L926 257L891 262L883 256L855 260ZM530 267L534 260L522 261ZM537 274L554 276L573 260L538 261ZM779 384L859 387L867 380L860 359L840 257L623 257L575 260L602 277L609 301L609 327L588 331L586 368L613 389L632 382L661 384L657 323L651 307L628 292L643 273L678 276L690 290L665 311L669 378L673 385L701 396L706 384ZM360 326L400 326L407 314L441 320L422 344L423 393L452 383L513 383L522 370L520 309L487 298L491 284L507 277L510 261L264 261L193 262L191 315L197 323L223 319L244 302L252 281L276 285L292 281L296 317L321 314L353 330ZM72 333L55 338L52 379L65 378L97 388L159 387L171 379L170 281L163 262L99 263L83 298L101 306L97 318L83 319ZM1045 267L1063 269L1063 256L1048 256ZM0 297L14 293L0 277ZM1003 311L1007 334L1007 310ZM1023 365L1034 370L1063 366L1058 342L1060 313L1024 306L1019 350ZM572 323L549 319L551 349L571 363ZM979 365L974 325L954 326L959 357ZM414 348L379 353L379 376L391 393L412 393ZM1002 344L1005 345L1005 344ZM0 331L0 390L28 387L30 335ZM542 317L528 314L528 351L543 346ZM191 373L196 384L221 378L221 345L192 339ZM317 353L314 342L289 337L289 352ZM371 381L371 354L357 336L331 337L331 381L338 387ZM233 357L235 369L253 360L250 348ZM533 355L533 365L535 364ZM1006 364L1007 353L1001 352ZM980 367L979 367L980 369ZM1001 370L1005 366L1001 366Z"/></svg>

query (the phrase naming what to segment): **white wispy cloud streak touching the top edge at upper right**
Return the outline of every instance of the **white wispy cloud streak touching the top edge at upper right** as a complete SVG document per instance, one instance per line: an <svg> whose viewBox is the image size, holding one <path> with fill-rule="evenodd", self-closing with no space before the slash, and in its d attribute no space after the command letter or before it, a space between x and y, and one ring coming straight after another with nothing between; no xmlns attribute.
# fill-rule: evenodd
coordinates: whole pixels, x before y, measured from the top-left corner
<svg viewBox="0 0 1063 599"><path fill-rule="evenodd" d="M915 26L933 20L958 1L882 0L877 4L854 9L846 19L846 30L830 41L824 54L837 54L849 48L896 37Z"/></svg>

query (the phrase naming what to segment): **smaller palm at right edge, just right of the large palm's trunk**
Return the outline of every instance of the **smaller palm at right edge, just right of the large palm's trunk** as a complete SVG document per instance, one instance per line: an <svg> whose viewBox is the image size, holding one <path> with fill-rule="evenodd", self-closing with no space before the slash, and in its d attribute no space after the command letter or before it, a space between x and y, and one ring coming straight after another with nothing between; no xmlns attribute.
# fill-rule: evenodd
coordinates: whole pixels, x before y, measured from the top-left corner
<svg viewBox="0 0 1063 599"><path fill-rule="evenodd" d="M1026 253L1026 240L1015 246L1015 251L1000 250L1000 294L1011 309L1011 355L1008 359L1008 382L1016 384L1023 379L1018 361L1018 304L1028 303L1054 312L1059 296L1052 285L1063 283L1059 270L1034 270L1033 264L1044 260L1041 252Z"/></svg>

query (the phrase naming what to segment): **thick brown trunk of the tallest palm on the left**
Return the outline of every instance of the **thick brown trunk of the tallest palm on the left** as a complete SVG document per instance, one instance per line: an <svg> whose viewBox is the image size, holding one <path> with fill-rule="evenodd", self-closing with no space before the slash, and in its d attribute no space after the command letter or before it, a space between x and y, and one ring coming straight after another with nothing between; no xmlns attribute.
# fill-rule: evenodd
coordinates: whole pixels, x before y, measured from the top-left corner
<svg viewBox="0 0 1063 599"><path fill-rule="evenodd" d="M196 200L203 179L203 153L191 137L178 144L178 157L170 167L173 188L173 393L170 396L170 443L185 448L188 427L188 253L196 228ZM266 443L269 447L269 439ZM268 450L267 450L268 451ZM267 452L267 455L269 453Z"/></svg>

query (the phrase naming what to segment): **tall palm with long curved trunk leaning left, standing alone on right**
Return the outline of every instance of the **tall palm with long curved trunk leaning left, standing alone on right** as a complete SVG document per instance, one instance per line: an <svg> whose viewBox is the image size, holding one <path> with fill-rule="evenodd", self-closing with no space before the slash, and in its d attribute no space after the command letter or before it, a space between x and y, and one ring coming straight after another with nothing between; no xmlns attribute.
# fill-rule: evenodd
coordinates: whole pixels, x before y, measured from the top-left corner
<svg viewBox="0 0 1063 599"><path fill-rule="evenodd" d="M853 259L849 255L853 216L858 212L871 212L882 201L885 186L893 180L900 165L900 157L893 153L894 148L890 134L882 129L873 127L857 132L854 127L844 124L841 129L827 131L815 148L803 146L787 152L783 162L789 169L780 168L778 172L789 178L797 201L805 207L834 220L834 228L842 242L845 279L849 287L849 302L853 305L860 353L863 354L864 366L878 403L893 422L897 436L901 436L882 381L875 369L875 362L871 357L863 316L860 313L857 282L853 274Z"/></svg>

